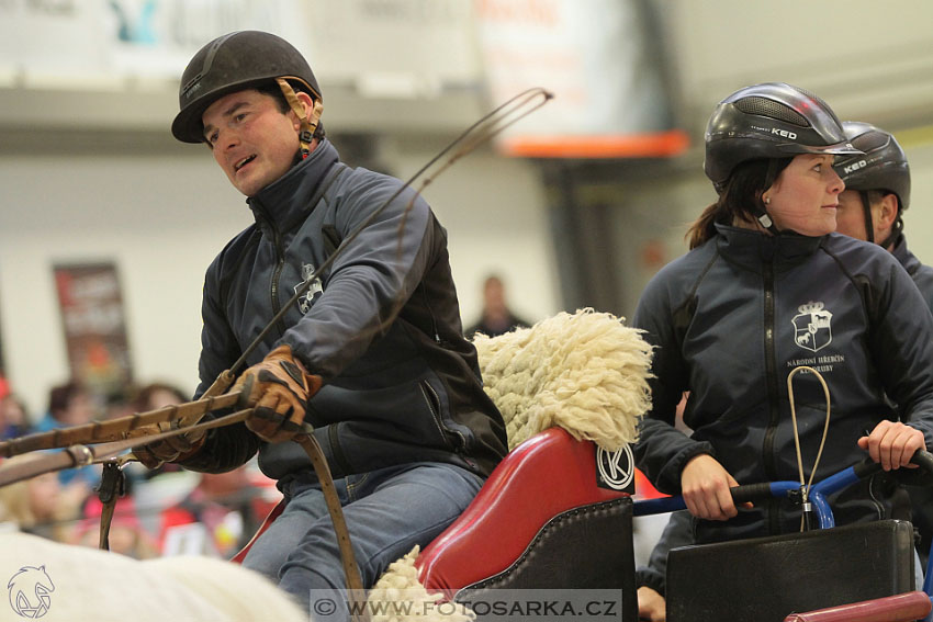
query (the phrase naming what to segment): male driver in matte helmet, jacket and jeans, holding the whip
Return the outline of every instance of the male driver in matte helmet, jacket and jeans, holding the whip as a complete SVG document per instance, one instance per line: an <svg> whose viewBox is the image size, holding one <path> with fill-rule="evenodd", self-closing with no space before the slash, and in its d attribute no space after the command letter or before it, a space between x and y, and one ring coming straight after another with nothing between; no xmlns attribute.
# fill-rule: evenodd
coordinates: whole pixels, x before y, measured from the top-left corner
<svg viewBox="0 0 933 622"><path fill-rule="evenodd" d="M218 37L189 64L179 99L172 134L204 143L256 217L207 269L198 396L336 257L248 358L234 388L251 378L252 418L136 454L223 472L258 452L288 505L244 564L308 607L346 587L321 484L304 450L282 442L310 423L369 588L452 522L506 452L461 335L447 234L411 189L386 204L398 180L339 161L321 89L285 41Z"/></svg>

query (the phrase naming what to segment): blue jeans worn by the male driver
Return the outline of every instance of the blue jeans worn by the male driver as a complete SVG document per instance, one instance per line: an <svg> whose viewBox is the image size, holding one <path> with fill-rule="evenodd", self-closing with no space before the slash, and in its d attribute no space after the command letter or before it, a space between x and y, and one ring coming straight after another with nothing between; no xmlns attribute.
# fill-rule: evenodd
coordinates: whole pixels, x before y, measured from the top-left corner
<svg viewBox="0 0 933 622"><path fill-rule="evenodd" d="M369 589L389 564L416 544L426 546L453 522L483 479L452 464L423 462L350 475L334 485ZM305 611L321 609L316 619L349 620L340 599L334 599L340 602L336 611L312 602L313 590L342 595L347 588L321 486L296 479L283 491L284 511L254 543L243 565L278 583Z"/></svg>

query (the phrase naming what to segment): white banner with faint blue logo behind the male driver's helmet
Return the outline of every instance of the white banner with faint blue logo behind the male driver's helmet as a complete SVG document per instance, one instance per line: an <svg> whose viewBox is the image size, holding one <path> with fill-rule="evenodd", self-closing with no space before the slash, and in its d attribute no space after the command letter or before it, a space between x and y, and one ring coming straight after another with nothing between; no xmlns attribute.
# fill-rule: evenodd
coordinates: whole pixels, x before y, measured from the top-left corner
<svg viewBox="0 0 933 622"><path fill-rule="evenodd" d="M262 30L307 47L302 0L0 0L0 76L27 86L117 88L178 79L224 33ZM110 80L110 82L108 82Z"/></svg>

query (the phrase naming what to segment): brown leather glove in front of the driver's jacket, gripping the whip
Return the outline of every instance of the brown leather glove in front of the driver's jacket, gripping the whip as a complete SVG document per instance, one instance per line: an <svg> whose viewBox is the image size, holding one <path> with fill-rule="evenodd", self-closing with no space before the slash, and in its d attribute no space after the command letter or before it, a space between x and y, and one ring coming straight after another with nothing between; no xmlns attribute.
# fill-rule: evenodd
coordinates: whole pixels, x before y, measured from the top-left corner
<svg viewBox="0 0 933 622"><path fill-rule="evenodd" d="M280 443L302 431L307 400L321 384L321 376L307 373L291 347L282 344L246 370L231 391L248 392L240 404L256 408L246 427L270 443Z"/></svg>

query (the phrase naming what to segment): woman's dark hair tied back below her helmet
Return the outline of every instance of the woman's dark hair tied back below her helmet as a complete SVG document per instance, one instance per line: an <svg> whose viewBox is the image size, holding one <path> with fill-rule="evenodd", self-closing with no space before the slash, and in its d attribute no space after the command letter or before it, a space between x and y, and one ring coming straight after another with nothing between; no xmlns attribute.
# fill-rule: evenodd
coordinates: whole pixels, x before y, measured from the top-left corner
<svg viewBox="0 0 933 622"><path fill-rule="evenodd" d="M702 211L687 230L690 248L696 248L716 235L716 224L731 225L735 220L754 223L765 212L762 194L771 188L794 158L747 160L732 169L716 203Z"/></svg>

